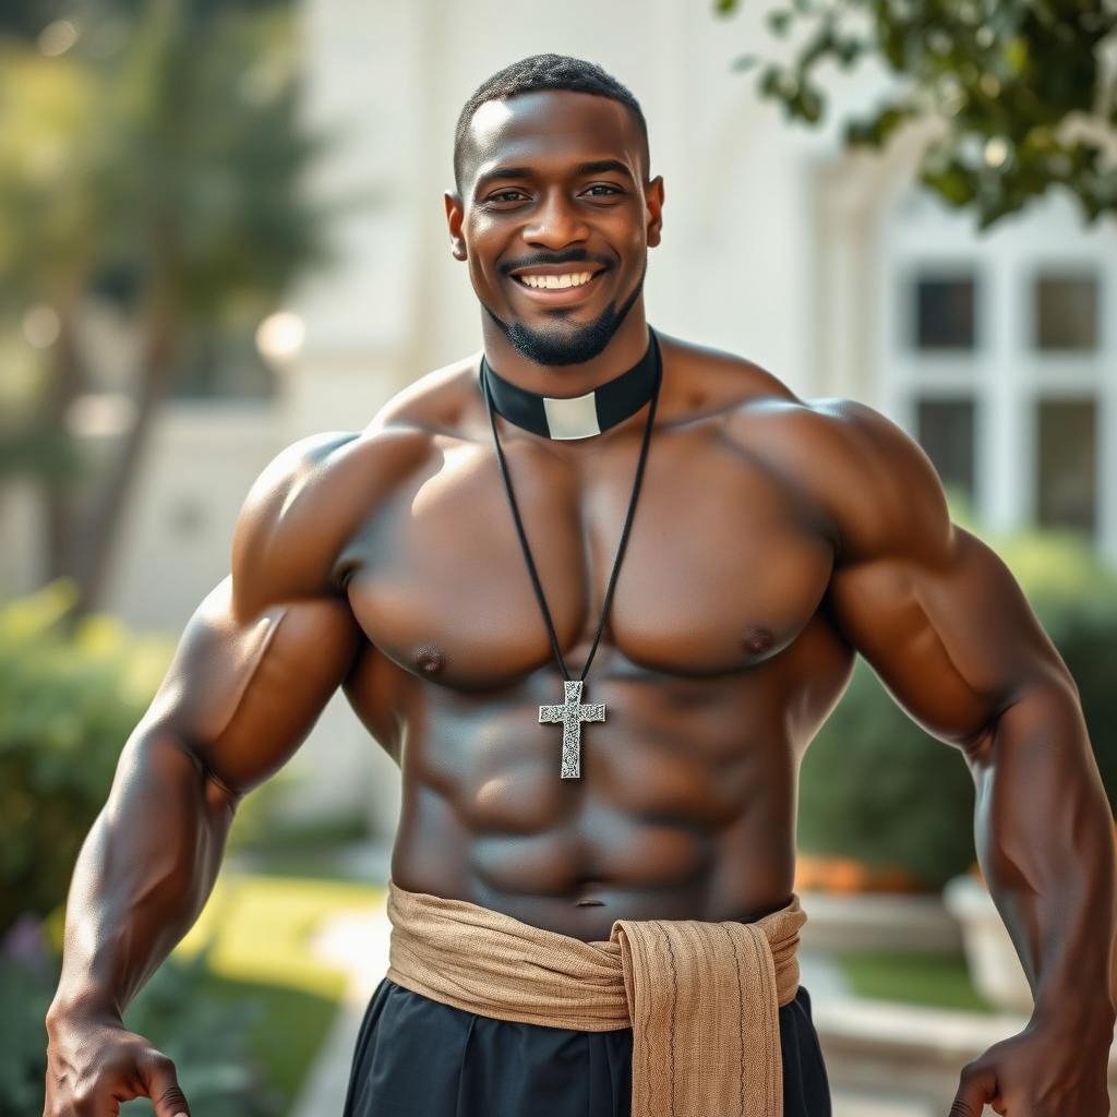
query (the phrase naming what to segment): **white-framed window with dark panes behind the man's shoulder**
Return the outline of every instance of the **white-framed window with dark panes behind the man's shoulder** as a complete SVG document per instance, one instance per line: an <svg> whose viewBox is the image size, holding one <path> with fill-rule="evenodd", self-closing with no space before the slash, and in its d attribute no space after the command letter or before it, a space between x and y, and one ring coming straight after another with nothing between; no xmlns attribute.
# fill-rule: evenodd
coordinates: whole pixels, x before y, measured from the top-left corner
<svg viewBox="0 0 1117 1117"><path fill-rule="evenodd" d="M1080 532L1117 561L1117 228L1057 197L984 232L914 188L891 201L879 405L980 525Z"/></svg>

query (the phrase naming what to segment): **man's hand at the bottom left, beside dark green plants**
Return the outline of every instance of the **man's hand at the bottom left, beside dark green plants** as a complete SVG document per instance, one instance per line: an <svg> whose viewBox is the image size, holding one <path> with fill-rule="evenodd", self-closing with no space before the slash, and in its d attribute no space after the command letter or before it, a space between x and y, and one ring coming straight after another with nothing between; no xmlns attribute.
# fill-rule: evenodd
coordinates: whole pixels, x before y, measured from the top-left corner
<svg viewBox="0 0 1117 1117"><path fill-rule="evenodd" d="M137 1097L151 1098L156 1117L189 1117L174 1063L113 1013L55 1016L47 1032L42 1117L118 1117Z"/></svg>

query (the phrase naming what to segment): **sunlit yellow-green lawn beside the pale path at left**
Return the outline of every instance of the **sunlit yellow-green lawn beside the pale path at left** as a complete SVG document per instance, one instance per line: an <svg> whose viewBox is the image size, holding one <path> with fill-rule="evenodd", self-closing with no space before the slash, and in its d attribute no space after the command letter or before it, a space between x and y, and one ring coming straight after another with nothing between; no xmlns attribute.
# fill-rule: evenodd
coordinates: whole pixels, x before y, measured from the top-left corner
<svg viewBox="0 0 1117 1117"><path fill-rule="evenodd" d="M207 992L260 1002L250 1050L290 1102L333 1023L347 976L311 954L328 916L375 906L383 889L356 881L273 875L218 878L197 924L175 947L191 956L212 936Z"/></svg>

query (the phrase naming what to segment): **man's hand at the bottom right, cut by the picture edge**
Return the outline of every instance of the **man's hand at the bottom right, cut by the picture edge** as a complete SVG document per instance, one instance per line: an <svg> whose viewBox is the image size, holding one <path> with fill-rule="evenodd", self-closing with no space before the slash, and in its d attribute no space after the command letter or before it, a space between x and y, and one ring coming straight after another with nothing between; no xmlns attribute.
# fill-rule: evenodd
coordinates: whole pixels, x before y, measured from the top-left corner
<svg viewBox="0 0 1117 1117"><path fill-rule="evenodd" d="M1032 1019L962 1069L949 1117L1108 1117L1108 1027Z"/></svg>

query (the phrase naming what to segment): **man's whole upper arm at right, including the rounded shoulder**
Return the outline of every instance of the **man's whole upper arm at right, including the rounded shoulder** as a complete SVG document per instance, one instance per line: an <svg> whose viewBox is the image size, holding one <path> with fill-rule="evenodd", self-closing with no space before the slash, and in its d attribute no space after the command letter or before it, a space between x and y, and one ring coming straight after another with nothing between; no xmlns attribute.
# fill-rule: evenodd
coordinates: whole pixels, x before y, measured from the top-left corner
<svg viewBox="0 0 1117 1117"><path fill-rule="evenodd" d="M951 521L923 448L852 400L812 419L810 476L839 540L827 609L897 703L971 752L1025 691L1073 689L1008 566Z"/></svg>

